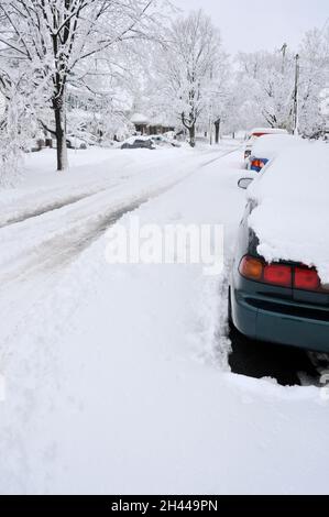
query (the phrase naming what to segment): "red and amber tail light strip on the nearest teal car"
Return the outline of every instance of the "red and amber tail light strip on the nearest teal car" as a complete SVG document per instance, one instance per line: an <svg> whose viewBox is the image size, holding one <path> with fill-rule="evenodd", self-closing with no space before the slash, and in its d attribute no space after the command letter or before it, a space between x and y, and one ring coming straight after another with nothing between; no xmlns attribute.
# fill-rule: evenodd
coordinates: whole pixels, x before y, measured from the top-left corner
<svg viewBox="0 0 329 517"><path fill-rule="evenodd" d="M327 286L321 286L315 268L292 266L288 264L267 264L261 258L245 255L239 266L240 274L250 280L276 285L294 289L328 293Z"/></svg>

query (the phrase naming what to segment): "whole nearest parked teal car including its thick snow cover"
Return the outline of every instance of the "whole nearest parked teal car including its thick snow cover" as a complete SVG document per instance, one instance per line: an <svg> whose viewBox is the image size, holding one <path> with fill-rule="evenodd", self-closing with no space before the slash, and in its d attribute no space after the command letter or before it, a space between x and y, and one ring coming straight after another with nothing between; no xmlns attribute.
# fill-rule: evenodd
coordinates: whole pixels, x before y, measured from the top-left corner
<svg viewBox="0 0 329 517"><path fill-rule="evenodd" d="M327 144L284 151L248 188L229 292L242 334L329 352Z"/></svg>

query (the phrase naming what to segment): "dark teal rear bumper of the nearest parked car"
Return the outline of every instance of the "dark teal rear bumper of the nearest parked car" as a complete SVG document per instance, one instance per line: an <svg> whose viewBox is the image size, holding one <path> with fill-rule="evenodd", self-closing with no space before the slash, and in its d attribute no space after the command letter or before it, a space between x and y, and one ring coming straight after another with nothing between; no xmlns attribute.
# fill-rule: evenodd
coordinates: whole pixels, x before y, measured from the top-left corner
<svg viewBox="0 0 329 517"><path fill-rule="evenodd" d="M249 338L329 352L329 320L326 317L299 316L298 305L294 302L251 298L250 293L233 287L231 307L234 326Z"/></svg>

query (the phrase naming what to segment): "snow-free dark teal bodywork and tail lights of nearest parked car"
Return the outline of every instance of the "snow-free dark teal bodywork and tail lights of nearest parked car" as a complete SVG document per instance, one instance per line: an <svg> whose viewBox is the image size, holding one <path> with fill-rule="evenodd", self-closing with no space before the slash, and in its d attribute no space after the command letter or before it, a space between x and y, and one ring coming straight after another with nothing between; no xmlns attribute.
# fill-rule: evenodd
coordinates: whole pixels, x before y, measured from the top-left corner
<svg viewBox="0 0 329 517"><path fill-rule="evenodd" d="M250 179L249 179L250 180ZM240 186L243 188L243 179ZM315 268L294 262L268 264L248 226L240 224L230 292L229 319L242 334L260 341L329 352L329 288Z"/></svg>

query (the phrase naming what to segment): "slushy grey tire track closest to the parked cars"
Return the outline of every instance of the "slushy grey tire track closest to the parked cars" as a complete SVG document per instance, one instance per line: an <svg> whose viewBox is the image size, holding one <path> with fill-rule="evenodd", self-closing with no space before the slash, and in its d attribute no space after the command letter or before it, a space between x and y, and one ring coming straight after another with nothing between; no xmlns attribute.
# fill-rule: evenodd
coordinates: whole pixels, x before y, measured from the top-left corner
<svg viewBox="0 0 329 517"><path fill-rule="evenodd" d="M199 166L193 167L178 179L166 183L162 187L149 187L129 201L117 202L103 213L90 213L86 220L78 220L64 232L44 240L35 249L29 250L26 257L19 257L15 263L10 261L9 267L1 267L0 275L0 312L3 317L0 343L0 366L6 362L6 340L12 334L13 327L24 326L26 310L37 305L52 292L62 277L62 272L69 266L102 233L118 222L124 215L136 210L141 205L156 198L194 174ZM15 314L14 321L11 315Z"/></svg>

